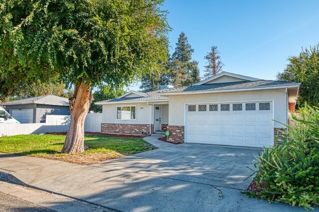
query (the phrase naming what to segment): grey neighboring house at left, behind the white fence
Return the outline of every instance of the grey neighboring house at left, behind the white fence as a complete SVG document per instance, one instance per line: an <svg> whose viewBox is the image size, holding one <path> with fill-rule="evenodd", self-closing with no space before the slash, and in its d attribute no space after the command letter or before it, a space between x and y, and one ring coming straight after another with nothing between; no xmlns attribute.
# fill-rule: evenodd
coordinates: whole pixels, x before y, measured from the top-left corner
<svg viewBox="0 0 319 212"><path fill-rule="evenodd" d="M45 115L70 115L69 100L54 95L16 100L1 106L20 123L43 123Z"/></svg>

